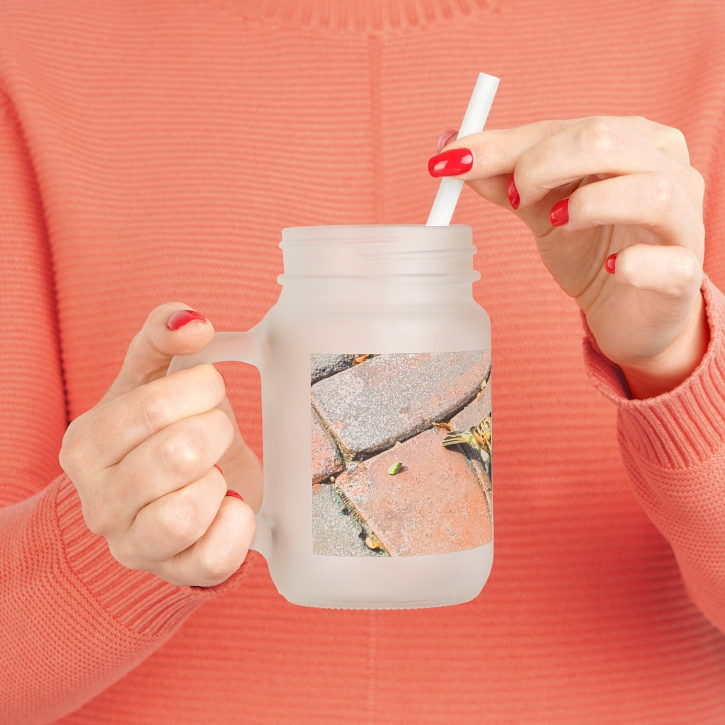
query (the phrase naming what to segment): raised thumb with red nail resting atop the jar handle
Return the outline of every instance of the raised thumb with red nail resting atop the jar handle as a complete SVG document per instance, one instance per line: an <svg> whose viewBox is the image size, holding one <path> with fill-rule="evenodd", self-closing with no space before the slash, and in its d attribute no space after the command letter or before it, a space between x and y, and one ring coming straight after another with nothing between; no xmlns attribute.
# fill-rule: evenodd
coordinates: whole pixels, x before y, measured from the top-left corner
<svg viewBox="0 0 725 725"><path fill-rule="evenodd" d="M103 399L116 398L165 376L174 355L199 352L213 334L212 323L182 302L160 305L131 341L120 373Z"/></svg>

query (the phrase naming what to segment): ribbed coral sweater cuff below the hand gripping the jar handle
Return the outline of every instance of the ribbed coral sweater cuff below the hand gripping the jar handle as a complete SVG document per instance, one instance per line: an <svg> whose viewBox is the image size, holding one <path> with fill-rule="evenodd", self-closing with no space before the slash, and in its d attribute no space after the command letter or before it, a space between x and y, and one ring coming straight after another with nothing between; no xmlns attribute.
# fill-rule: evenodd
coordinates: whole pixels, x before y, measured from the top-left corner
<svg viewBox="0 0 725 725"><path fill-rule="evenodd" d="M55 485L57 522L71 575L109 616L142 637L171 634L204 601L246 576L244 563L217 587L176 587L153 574L125 568L112 557L106 540L88 530L72 481L61 476Z"/></svg>

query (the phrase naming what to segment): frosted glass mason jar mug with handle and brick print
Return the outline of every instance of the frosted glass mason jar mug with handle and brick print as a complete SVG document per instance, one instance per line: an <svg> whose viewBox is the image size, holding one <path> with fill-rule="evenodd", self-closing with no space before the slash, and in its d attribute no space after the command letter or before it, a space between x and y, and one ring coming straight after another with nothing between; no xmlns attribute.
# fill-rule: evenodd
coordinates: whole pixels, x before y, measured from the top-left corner
<svg viewBox="0 0 725 725"><path fill-rule="evenodd" d="M451 605L493 560L491 331L471 228L287 228L278 302L170 371L239 360L262 384L252 548L289 602ZM240 298L240 305L244 299Z"/></svg>

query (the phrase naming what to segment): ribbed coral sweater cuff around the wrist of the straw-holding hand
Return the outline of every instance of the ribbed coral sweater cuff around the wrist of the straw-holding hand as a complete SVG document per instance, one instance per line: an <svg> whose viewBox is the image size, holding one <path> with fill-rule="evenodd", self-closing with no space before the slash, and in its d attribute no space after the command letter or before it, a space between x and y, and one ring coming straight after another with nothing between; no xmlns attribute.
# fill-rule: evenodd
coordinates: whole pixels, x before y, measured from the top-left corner
<svg viewBox="0 0 725 725"><path fill-rule="evenodd" d="M629 399L621 369L602 355L589 328L584 339L592 382L619 408L621 444L667 468L696 465L725 441L725 297L708 278L703 297L710 326L705 357L686 381L657 397Z"/></svg>

